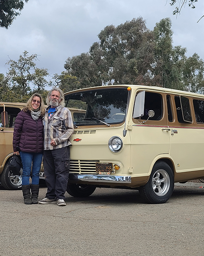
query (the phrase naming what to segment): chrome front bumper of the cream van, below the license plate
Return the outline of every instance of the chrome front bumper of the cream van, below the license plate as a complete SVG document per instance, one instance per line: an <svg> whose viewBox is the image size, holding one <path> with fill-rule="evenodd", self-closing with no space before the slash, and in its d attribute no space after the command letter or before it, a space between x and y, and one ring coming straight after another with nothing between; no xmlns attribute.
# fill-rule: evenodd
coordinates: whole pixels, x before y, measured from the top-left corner
<svg viewBox="0 0 204 256"><path fill-rule="evenodd" d="M40 178L45 178L44 172L40 172ZM69 180L84 182L103 182L103 183L131 183L131 176L112 176L99 174L69 174Z"/></svg>

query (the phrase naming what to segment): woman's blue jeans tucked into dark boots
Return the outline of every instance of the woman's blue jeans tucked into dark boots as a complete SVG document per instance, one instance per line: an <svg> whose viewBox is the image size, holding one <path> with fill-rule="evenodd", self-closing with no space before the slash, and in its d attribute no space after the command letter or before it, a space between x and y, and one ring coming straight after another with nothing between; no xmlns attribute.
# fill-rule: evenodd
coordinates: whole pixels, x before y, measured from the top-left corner
<svg viewBox="0 0 204 256"><path fill-rule="evenodd" d="M32 184L39 184L39 172L41 168L41 162L43 158L43 153L28 153L20 152L22 164L23 164L23 175L22 175L22 185L29 185L29 177L32 166Z"/></svg>

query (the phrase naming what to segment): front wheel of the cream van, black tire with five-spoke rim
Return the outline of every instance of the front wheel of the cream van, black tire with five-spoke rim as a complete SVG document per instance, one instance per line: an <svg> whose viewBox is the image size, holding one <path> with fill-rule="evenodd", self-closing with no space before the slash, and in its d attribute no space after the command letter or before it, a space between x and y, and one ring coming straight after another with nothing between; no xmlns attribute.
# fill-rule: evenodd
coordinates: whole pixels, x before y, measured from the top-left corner
<svg viewBox="0 0 204 256"><path fill-rule="evenodd" d="M147 203L163 204L169 200L173 189L173 171L166 162L159 161L154 165L147 184L139 188L139 193Z"/></svg>

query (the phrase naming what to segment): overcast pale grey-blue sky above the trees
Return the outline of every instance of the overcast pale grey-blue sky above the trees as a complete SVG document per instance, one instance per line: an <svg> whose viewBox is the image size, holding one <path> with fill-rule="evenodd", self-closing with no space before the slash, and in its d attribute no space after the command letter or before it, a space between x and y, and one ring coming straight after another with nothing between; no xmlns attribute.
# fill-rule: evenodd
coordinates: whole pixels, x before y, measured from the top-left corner
<svg viewBox="0 0 204 256"><path fill-rule="evenodd" d="M6 74L10 59L18 60L27 50L38 54L38 68L51 75L64 71L68 57L88 52L107 25L118 26L141 16L153 30L163 18L172 21L173 45L186 47L187 56L196 52L204 60L204 1L187 5L176 18L170 0L29 0L21 15L6 30L0 28L0 73Z"/></svg>

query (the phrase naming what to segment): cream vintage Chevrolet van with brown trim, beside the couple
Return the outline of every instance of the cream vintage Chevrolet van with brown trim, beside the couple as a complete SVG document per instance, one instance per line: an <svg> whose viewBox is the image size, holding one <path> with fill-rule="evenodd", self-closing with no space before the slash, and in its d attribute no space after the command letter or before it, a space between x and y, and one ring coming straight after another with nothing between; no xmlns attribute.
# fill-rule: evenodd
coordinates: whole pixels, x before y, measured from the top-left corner
<svg viewBox="0 0 204 256"><path fill-rule="evenodd" d="M175 182L204 178L204 96L153 86L98 86L65 93L74 121L67 192L139 189L164 203Z"/></svg>

